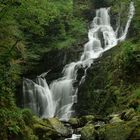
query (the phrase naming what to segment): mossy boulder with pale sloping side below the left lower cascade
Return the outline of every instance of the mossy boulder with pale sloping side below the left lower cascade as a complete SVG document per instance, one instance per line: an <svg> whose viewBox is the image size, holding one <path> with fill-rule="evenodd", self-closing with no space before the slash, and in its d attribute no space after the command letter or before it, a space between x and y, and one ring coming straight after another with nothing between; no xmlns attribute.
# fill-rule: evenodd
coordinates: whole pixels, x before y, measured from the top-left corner
<svg viewBox="0 0 140 140"><path fill-rule="evenodd" d="M40 140L56 140L71 134L71 131L57 118L40 119L34 117L33 130Z"/></svg>

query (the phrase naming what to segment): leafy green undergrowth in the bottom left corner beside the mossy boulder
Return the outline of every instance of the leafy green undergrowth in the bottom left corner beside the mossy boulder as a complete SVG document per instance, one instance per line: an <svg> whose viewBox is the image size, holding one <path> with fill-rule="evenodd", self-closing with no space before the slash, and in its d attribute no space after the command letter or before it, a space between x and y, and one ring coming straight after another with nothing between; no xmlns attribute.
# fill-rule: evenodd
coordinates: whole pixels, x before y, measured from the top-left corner
<svg viewBox="0 0 140 140"><path fill-rule="evenodd" d="M0 137L3 140L37 140L32 125L33 115L30 110L0 109Z"/></svg>

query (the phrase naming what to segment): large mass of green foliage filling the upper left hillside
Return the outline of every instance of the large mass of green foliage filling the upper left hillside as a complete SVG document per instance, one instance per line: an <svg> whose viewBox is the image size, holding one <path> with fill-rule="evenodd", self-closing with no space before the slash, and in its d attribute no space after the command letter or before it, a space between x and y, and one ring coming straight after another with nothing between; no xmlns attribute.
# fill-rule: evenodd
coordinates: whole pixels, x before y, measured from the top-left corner
<svg viewBox="0 0 140 140"><path fill-rule="evenodd" d="M0 11L0 91L11 99L20 75L42 53L71 46L86 30L82 18L73 15L72 0L6 0Z"/></svg>

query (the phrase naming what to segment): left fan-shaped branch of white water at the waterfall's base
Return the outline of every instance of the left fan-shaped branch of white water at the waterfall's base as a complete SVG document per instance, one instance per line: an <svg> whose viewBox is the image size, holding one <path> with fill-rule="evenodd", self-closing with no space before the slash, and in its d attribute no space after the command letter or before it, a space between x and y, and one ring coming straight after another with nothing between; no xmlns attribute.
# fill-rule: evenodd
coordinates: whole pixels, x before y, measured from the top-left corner
<svg viewBox="0 0 140 140"><path fill-rule="evenodd" d="M37 77L36 83L32 80L24 79L23 93L24 107L30 108L38 116L53 117L54 101L45 79Z"/></svg>

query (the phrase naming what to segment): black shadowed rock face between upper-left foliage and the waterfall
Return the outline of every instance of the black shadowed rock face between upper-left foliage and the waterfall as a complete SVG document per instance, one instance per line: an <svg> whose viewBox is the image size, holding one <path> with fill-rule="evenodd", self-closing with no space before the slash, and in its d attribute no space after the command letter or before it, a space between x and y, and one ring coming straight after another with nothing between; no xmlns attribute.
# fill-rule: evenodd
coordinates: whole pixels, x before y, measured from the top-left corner
<svg viewBox="0 0 140 140"><path fill-rule="evenodd" d="M75 47L65 49L55 49L45 53L38 64L24 74L24 77L34 79L37 75L49 71L46 77L48 83L52 80L58 79L62 76L61 72L66 64L79 60L83 51L83 44L84 43L77 44Z"/></svg>

